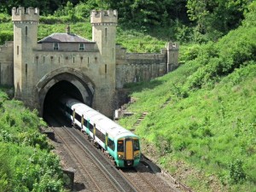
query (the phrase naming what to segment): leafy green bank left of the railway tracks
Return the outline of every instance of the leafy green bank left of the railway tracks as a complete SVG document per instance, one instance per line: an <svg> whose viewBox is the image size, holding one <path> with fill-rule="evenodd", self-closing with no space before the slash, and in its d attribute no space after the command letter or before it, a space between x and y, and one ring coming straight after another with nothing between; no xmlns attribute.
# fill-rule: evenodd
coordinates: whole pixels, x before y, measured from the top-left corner
<svg viewBox="0 0 256 192"><path fill-rule="evenodd" d="M38 131L43 125L36 111L0 90L1 192L64 191L60 161Z"/></svg>

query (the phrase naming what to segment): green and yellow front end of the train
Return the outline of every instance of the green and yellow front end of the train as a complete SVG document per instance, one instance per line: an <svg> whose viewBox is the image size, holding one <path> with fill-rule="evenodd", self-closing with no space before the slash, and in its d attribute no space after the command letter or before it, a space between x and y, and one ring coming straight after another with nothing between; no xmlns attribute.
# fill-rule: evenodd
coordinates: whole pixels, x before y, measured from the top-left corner
<svg viewBox="0 0 256 192"><path fill-rule="evenodd" d="M115 163L119 167L137 166L140 162L140 142L136 135L118 137L116 143Z"/></svg>

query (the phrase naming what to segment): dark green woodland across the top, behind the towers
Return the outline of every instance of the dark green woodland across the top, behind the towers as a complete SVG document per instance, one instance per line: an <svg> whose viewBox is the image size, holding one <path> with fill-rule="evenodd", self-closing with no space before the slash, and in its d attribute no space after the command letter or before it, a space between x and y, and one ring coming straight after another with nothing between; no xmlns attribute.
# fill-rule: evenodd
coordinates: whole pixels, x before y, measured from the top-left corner
<svg viewBox="0 0 256 192"><path fill-rule="evenodd" d="M0 4L1 13L13 7L38 7L44 23L74 23L88 20L92 9L117 9L119 25L136 28L165 40L216 41L241 24L243 13L253 0L12 0ZM0 20L10 20L0 15ZM157 32L153 28L160 26ZM193 27L191 27L193 26ZM153 33L152 33L153 32ZM164 32L164 34L162 34ZM0 34L1 36L1 34Z"/></svg>

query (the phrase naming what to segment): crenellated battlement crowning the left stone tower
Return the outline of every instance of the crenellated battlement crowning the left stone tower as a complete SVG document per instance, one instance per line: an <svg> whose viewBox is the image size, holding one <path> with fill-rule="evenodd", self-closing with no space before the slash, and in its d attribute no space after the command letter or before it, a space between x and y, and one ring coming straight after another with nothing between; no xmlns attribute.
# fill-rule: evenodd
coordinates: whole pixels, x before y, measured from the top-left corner
<svg viewBox="0 0 256 192"><path fill-rule="evenodd" d="M23 7L13 8L12 9L12 20L13 21L38 21L39 20L39 9L38 8L27 8L26 10Z"/></svg>

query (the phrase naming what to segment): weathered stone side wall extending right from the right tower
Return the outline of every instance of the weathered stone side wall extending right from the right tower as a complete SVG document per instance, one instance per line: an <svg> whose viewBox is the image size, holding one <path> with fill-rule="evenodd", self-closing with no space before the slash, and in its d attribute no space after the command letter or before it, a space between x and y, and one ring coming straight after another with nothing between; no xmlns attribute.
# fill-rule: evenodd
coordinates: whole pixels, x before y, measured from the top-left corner
<svg viewBox="0 0 256 192"><path fill-rule="evenodd" d="M161 53L126 53L126 49L117 45L116 53L117 89L126 83L148 81L166 74L166 49Z"/></svg>

